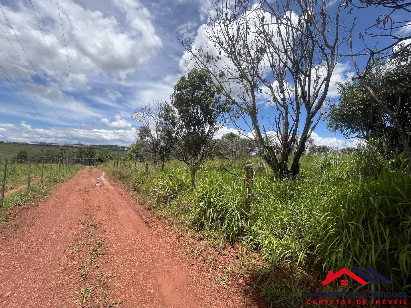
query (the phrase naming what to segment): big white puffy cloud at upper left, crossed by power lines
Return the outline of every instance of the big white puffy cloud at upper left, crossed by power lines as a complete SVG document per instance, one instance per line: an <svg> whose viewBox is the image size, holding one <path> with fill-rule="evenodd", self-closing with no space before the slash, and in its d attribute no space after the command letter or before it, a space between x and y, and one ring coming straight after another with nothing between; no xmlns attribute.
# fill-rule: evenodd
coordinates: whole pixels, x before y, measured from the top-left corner
<svg viewBox="0 0 411 308"><path fill-rule="evenodd" d="M54 78L51 62L32 8L26 2L18 4L18 11L7 6L2 8L28 51L30 59L36 64L37 71L44 77ZM145 7L137 1L117 0L114 4L123 12L127 11L125 26L122 26L114 16L103 14L98 10L86 9L72 0L59 4L65 28L67 52L71 59L76 86L87 83L87 76L90 75L111 72L120 78L125 78L127 73L139 67L162 46L161 39L152 25L150 13ZM62 78L68 77L65 45L61 28L57 26L60 25L60 18L56 4L52 0L47 0L36 1L34 5L57 73ZM5 18L1 18L0 23L7 37L15 42L16 38ZM11 62L19 63L18 65L21 66L7 39L2 36L0 42L5 54L11 58ZM22 59L28 61L25 57ZM4 58L1 61L6 62ZM26 65L30 67L29 63ZM21 73L27 74L23 67L19 68ZM71 87L68 79L66 86Z"/></svg>

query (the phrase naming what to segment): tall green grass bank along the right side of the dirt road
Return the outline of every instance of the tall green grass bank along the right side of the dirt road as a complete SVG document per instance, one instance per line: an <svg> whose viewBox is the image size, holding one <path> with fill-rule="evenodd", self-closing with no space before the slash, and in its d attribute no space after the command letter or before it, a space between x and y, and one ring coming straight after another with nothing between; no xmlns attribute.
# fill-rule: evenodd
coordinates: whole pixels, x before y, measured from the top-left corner
<svg viewBox="0 0 411 308"><path fill-rule="evenodd" d="M254 166L258 160L252 159ZM371 267L393 281L390 287L367 285L367 290L410 290L411 177L400 160L369 152L308 154L292 181L277 181L270 170L256 168L248 212L241 178L246 163L204 163L195 189L190 170L175 161L164 172L150 166L148 178L142 164L137 171L113 168L112 162L103 168L139 192L157 214L221 244L241 241L249 251L259 251L266 262L251 274L255 281L263 278L257 291L275 306L282 300L299 306L304 290L312 287L312 273L319 271L322 280L327 270L342 267ZM275 274L284 261L293 275L288 281ZM339 289L347 287L332 287Z"/></svg>

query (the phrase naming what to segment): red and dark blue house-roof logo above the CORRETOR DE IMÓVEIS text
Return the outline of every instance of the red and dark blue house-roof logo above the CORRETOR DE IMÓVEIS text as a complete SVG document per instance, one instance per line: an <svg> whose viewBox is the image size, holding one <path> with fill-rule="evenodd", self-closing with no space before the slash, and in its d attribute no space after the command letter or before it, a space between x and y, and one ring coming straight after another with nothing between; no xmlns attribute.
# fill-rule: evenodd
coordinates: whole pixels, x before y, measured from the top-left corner
<svg viewBox="0 0 411 308"><path fill-rule="evenodd" d="M386 277L384 277L381 274L377 273L376 271L374 271L370 267L366 267L365 270L367 272L369 272L370 274L372 274L374 277L381 280L386 285L391 285L392 282L389 279L387 279ZM353 272L358 274L359 276L354 274ZM321 281L321 283L323 285L328 285L330 282L338 279L339 277L341 277L343 275L351 277L353 280L356 280L356 282L358 282L360 285L366 285L367 282L370 282L374 285L379 284L378 280L376 280L372 276L366 274L365 272L361 271L360 269L358 269L358 267L353 267L352 271L349 271L345 267L343 267L342 269L340 269L336 273L334 273L334 271L328 271L328 277L325 280ZM360 276L362 276L367 281L364 280L363 278L361 278ZM348 285L349 285L348 280L347 279L341 279L340 282L339 282L339 285L348 287Z"/></svg>

